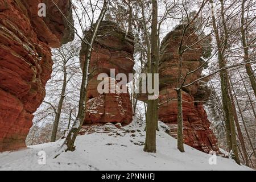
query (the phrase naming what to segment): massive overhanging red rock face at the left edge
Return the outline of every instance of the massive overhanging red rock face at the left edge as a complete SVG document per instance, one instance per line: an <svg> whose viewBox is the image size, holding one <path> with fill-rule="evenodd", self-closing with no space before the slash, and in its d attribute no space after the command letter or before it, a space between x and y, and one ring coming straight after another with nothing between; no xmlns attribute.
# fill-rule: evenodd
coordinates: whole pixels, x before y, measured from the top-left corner
<svg viewBox="0 0 256 182"><path fill-rule="evenodd" d="M38 16L46 3L46 17ZM72 23L68 0L55 1ZM0 151L26 147L32 113L45 96L51 77L51 49L74 37L51 0L0 2Z"/></svg>

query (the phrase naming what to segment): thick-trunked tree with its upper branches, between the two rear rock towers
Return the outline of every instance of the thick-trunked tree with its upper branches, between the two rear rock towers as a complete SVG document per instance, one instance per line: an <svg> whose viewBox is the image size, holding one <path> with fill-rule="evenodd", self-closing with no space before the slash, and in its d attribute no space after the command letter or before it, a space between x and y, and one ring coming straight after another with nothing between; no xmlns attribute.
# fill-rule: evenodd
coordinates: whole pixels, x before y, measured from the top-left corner
<svg viewBox="0 0 256 182"><path fill-rule="evenodd" d="M160 14L158 13L158 2L151 1L152 3L152 11L148 13L146 10L148 9L147 3L140 1L139 9L141 10L142 18L141 18L141 30L142 37L144 38L144 44L146 45L144 48L144 52L146 52L146 64L142 68L142 72L151 73L151 81L152 88L155 86L159 86L159 83L156 83L154 80L155 74L158 74L159 67L159 55L160 55L160 34L162 34L161 26L164 22L172 19L174 14L176 14L176 1L160 1L161 6L163 7ZM147 12L147 13L146 13ZM152 13L151 13L152 12ZM146 15L150 15L149 18L146 18ZM152 17L152 18L151 18ZM151 28L147 26L147 23L151 22ZM151 29L151 32L149 31ZM150 36L151 35L151 36ZM151 39L150 39L151 38ZM148 96L153 96L150 93L147 93ZM144 146L144 151L146 152L156 152L156 131L158 129L158 107L159 100L158 98L155 100L147 100L147 108L146 109L146 142ZM149 127L149 128L148 128ZM153 131L154 130L154 131Z"/></svg>

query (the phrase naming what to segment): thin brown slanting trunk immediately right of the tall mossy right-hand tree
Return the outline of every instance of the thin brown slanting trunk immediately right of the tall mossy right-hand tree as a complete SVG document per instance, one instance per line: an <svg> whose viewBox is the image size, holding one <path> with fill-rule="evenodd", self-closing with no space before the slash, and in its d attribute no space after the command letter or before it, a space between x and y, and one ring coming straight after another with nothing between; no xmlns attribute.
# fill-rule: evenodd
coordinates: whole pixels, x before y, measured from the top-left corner
<svg viewBox="0 0 256 182"><path fill-rule="evenodd" d="M230 80L230 78L229 78L229 80ZM230 82L231 82L231 80L230 80ZM228 82L228 84L229 84L229 82ZM242 134L241 127L240 127L240 124L238 121L237 110L236 110L236 106L234 104L234 98L233 98L233 94L232 94L232 91L230 88L230 84L228 85L228 87L229 87L230 99L232 102L232 109L233 109L233 113L234 113L234 121L235 121L236 127L237 127L238 139L240 140L240 143L241 143L243 159L245 161L246 166L249 166L249 160L247 157L247 151L246 151L246 147L245 147L245 140L243 139L243 134Z"/></svg>

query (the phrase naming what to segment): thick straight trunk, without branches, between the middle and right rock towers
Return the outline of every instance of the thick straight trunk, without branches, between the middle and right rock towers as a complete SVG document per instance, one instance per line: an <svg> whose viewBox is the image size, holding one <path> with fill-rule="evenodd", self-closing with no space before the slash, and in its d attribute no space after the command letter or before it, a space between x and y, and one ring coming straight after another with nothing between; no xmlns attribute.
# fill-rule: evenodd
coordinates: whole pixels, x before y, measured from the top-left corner
<svg viewBox="0 0 256 182"><path fill-rule="evenodd" d="M159 86L155 83L155 74L158 73L159 51L158 51L158 3L152 0L152 31L151 31L151 70L152 88ZM153 93L154 94L154 93ZM146 142L145 152L156 152L156 124L158 122L158 99L148 100L146 113Z"/></svg>

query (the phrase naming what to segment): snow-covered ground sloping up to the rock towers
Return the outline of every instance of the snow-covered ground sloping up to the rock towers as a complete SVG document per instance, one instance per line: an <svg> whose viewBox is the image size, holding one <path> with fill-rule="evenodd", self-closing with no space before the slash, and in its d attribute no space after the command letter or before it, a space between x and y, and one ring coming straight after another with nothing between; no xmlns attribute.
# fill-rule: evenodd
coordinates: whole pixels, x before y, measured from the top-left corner
<svg viewBox="0 0 256 182"><path fill-rule="evenodd" d="M157 133L157 152L143 152L143 127L136 123L123 130L110 124L102 129L96 127L96 132L77 137L75 151L63 152L56 159L53 156L62 139L2 152L0 170L252 170L219 156L216 164L210 165L209 159L214 163L214 156L189 146L185 146L185 152L181 153L176 148L176 139L162 127ZM44 152L46 164L39 159Z"/></svg>

